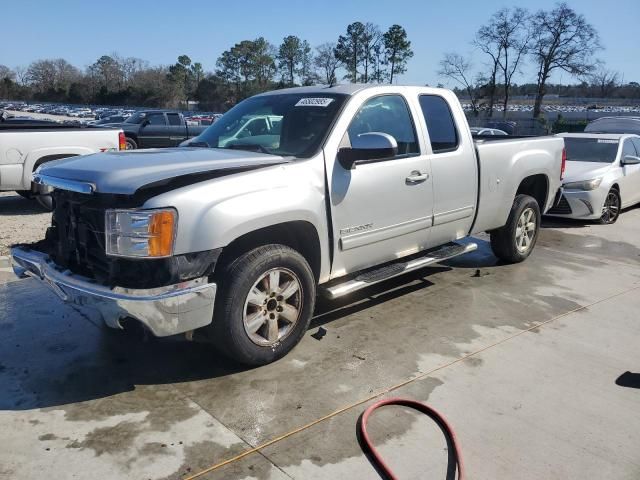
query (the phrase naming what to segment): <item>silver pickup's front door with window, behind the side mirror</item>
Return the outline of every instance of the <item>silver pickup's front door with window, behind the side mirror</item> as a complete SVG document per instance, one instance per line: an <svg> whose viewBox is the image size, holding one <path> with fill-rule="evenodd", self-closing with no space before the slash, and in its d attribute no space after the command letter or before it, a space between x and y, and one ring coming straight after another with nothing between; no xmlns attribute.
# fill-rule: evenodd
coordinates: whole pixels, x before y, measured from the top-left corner
<svg viewBox="0 0 640 480"><path fill-rule="evenodd" d="M428 245L433 193L430 164L420 151L417 122L400 94L367 100L353 117L341 146L369 132L393 136L392 158L348 169L336 159L330 196L337 240L332 277L418 252Z"/></svg>

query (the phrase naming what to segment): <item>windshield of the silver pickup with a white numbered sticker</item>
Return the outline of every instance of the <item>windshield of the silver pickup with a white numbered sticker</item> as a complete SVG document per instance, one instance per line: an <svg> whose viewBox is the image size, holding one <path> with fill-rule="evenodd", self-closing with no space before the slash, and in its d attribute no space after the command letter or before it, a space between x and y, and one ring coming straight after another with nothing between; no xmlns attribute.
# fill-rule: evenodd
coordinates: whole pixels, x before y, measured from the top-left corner
<svg viewBox="0 0 640 480"><path fill-rule="evenodd" d="M195 137L193 143L310 157L320 147L346 98L321 93L249 98Z"/></svg>

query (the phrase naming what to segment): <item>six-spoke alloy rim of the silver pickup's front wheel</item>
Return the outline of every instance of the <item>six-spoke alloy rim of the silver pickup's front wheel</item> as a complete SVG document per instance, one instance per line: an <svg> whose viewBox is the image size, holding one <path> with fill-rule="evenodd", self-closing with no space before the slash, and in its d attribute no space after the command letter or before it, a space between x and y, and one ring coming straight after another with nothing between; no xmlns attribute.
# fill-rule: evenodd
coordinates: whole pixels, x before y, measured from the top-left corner
<svg viewBox="0 0 640 480"><path fill-rule="evenodd" d="M243 324L249 339L273 346L293 331L302 313L302 283L286 268L260 275L244 304Z"/></svg>

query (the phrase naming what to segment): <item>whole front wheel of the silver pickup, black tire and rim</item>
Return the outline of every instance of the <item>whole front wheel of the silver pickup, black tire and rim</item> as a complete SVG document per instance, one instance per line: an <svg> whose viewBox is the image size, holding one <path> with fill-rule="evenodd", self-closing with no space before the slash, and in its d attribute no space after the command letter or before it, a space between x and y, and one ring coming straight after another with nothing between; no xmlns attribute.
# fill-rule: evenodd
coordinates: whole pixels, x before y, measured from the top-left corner
<svg viewBox="0 0 640 480"><path fill-rule="evenodd" d="M223 354L245 365L265 365L300 342L316 298L313 272L300 253L284 245L259 247L224 268L219 280L207 328Z"/></svg>

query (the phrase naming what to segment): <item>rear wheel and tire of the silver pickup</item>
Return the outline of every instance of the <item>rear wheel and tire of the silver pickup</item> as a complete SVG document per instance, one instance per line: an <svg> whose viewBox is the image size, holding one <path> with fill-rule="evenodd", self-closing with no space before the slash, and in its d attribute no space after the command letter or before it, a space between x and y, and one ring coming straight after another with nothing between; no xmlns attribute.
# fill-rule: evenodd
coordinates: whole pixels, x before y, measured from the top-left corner
<svg viewBox="0 0 640 480"><path fill-rule="evenodd" d="M524 261L533 251L540 231L540 207L529 195L516 195L506 225L491 232L491 249L506 263ZM527 225L522 234L521 225Z"/></svg>

